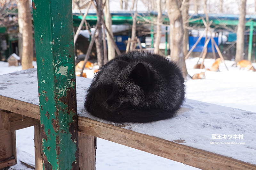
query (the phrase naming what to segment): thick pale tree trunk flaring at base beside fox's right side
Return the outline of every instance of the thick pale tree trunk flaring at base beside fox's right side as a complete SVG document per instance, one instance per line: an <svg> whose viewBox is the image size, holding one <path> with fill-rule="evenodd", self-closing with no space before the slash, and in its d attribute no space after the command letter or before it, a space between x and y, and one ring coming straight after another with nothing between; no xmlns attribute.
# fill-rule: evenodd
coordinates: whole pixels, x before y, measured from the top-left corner
<svg viewBox="0 0 256 170"><path fill-rule="evenodd" d="M183 71L184 78L187 77L187 68L183 54L183 22L177 0L166 0L168 17L170 20L170 49L171 59L178 63Z"/></svg>

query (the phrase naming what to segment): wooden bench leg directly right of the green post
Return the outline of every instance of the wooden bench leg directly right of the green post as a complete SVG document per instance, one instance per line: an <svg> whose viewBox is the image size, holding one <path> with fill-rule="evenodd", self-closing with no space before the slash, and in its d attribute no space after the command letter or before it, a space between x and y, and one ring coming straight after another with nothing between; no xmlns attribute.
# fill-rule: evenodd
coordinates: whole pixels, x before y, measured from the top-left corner
<svg viewBox="0 0 256 170"><path fill-rule="evenodd" d="M80 170L95 170L97 137L78 132Z"/></svg>

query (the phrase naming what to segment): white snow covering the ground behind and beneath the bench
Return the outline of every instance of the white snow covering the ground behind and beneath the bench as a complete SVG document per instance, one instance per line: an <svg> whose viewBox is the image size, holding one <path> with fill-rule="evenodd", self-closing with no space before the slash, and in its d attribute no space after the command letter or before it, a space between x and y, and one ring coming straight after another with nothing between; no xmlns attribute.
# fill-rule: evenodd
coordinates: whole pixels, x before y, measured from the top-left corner
<svg viewBox="0 0 256 170"><path fill-rule="evenodd" d="M200 73L200 69L193 69L198 58L188 58L186 65L188 73L193 76ZM205 68L210 68L213 59L205 59ZM225 61L220 65L220 72L206 71L206 79L188 80L186 82L186 97L188 99L218 104L222 106L240 108L256 112L256 72L239 70L231 67L233 61ZM36 63L33 63L36 66ZM256 68L256 63L253 63ZM21 66L8 67L8 63L0 62L0 75L21 70ZM89 70L91 71L91 70ZM87 77L92 74L87 74ZM33 161L34 155L34 128L26 128L16 131L16 145L18 159ZM25 153L26 151L27 153ZM32 159L31 159L32 158ZM31 162L33 164L33 162ZM13 169L26 169L21 164L12 166ZM169 159L142 152L127 146L112 143L103 139L97 139L96 169L197 169L185 166Z"/></svg>

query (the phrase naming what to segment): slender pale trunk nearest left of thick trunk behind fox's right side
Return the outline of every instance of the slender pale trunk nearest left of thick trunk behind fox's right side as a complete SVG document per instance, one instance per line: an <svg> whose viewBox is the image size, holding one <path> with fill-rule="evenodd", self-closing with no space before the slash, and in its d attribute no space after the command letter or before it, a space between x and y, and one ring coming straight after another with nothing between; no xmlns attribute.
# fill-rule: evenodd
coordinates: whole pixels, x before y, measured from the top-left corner
<svg viewBox="0 0 256 170"><path fill-rule="evenodd" d="M159 44L161 39L161 25L160 22L162 20L162 11L161 11L161 0L157 0L157 24L156 24L156 42L154 53L159 53Z"/></svg>

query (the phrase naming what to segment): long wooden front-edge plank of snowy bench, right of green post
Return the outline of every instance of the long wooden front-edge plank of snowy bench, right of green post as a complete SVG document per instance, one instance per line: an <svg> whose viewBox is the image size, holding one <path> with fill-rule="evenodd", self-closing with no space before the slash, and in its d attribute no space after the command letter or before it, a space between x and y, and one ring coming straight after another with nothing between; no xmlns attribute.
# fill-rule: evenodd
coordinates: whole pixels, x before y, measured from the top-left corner
<svg viewBox="0 0 256 170"><path fill-rule="evenodd" d="M14 99L10 99L10 101L11 100ZM11 103L13 104L15 102L13 101ZM34 108L34 106L32 106L32 108ZM34 109L33 114L37 115L38 112L39 106L37 106L37 109ZM205 170L256 169L256 165L245 163L243 161L228 158L222 155L214 154L212 152L207 152L175 142L170 142L161 138L137 133L132 130L123 129L111 124L97 122L82 116L78 116L78 130L91 136L100 137L118 144L123 144L135 149L139 149L141 151L149 152Z"/></svg>

